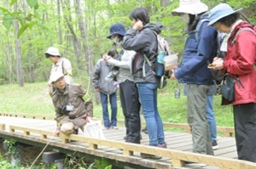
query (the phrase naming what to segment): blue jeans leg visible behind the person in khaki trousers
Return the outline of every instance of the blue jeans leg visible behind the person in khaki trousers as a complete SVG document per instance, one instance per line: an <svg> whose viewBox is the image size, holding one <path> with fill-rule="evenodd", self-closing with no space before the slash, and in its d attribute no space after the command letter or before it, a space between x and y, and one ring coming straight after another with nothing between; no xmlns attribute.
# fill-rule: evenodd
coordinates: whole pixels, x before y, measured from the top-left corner
<svg viewBox="0 0 256 169"><path fill-rule="evenodd" d="M216 131L216 120L212 108L213 95L207 95L207 119L208 125L210 129L212 143L216 140L217 131Z"/></svg>

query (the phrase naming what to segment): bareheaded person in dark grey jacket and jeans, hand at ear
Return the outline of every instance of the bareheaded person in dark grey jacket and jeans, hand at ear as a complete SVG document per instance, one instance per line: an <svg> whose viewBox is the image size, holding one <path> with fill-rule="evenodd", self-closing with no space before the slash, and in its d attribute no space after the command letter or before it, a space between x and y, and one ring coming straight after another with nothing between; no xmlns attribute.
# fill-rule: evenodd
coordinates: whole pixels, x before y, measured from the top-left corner
<svg viewBox="0 0 256 169"><path fill-rule="evenodd" d="M132 29L126 32L123 40L125 50L137 52L131 61L131 72L137 83L138 93L143 105L144 118L148 128L149 145L166 148L163 122L157 109L157 88L160 86L160 76L155 76L148 65L154 64L158 55L158 41L154 31L159 34L163 25L149 23L145 8L136 8L129 15ZM144 158L160 159L158 155L141 153Z"/></svg>

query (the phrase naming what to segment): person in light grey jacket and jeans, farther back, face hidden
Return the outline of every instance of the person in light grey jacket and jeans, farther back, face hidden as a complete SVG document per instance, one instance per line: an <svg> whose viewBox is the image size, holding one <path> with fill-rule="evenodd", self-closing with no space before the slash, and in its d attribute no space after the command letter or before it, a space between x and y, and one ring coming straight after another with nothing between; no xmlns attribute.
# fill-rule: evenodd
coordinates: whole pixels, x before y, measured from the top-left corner
<svg viewBox="0 0 256 169"><path fill-rule="evenodd" d="M104 59L99 59L96 63L95 70L92 76L92 85L95 87L96 92L101 94L102 102L102 115L104 121L105 130L118 129L117 127L117 102L116 102L116 90L117 87L113 85L113 82L108 82L105 77L112 70L113 66L104 62ZM108 114L108 97L111 104L111 121L109 121Z"/></svg>

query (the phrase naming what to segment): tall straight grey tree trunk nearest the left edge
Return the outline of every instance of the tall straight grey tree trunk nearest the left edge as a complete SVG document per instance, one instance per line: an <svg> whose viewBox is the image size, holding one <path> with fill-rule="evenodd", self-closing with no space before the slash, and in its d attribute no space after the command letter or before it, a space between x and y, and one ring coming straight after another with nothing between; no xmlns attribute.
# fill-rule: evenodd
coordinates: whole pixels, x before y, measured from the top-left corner
<svg viewBox="0 0 256 169"><path fill-rule="evenodd" d="M14 12L17 12L18 4L14 4ZM24 87L23 80L23 70L22 70L22 62L21 62L21 48L20 48L20 38L17 37L19 31L19 21L15 19L15 43L16 43L16 66L17 66L17 79L20 87Z"/></svg>

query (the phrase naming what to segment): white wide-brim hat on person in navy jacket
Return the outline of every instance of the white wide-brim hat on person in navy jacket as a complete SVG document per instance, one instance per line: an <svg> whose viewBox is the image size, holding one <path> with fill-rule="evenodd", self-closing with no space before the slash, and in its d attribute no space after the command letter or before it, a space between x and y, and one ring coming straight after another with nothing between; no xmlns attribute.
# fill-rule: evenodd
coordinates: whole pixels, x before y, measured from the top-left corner
<svg viewBox="0 0 256 169"><path fill-rule="evenodd" d="M201 3L200 0L180 0L179 7L172 10L173 16L181 16L181 14L201 14L207 12L208 6Z"/></svg>

